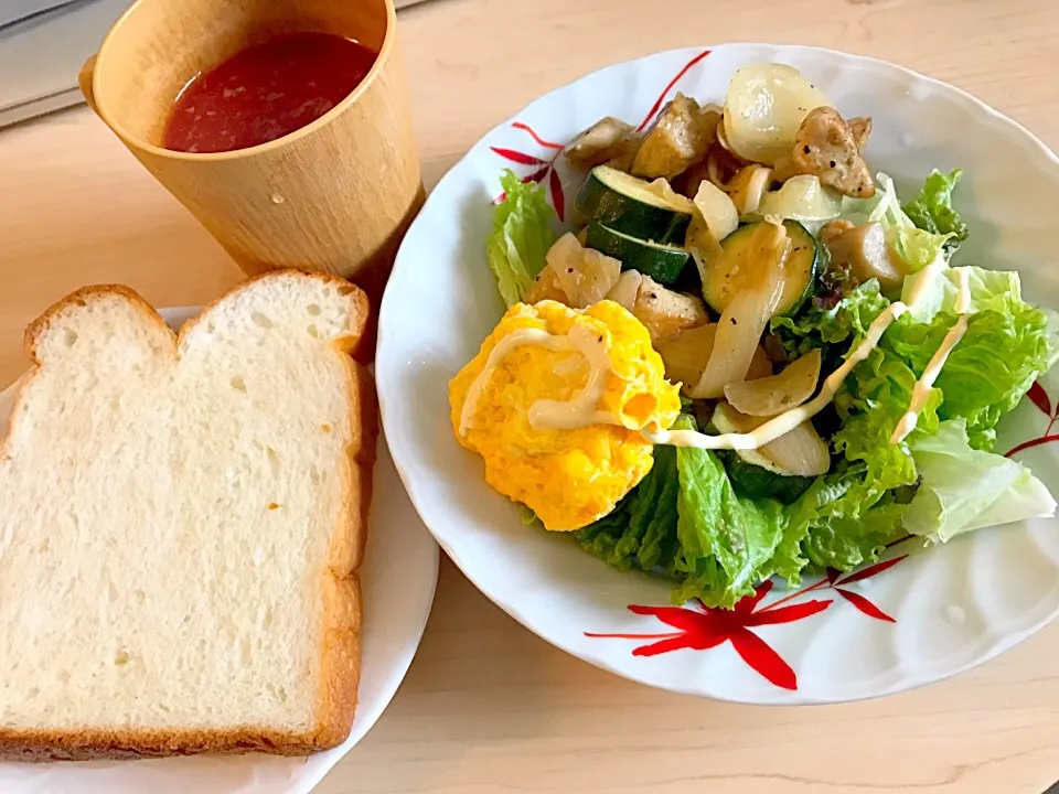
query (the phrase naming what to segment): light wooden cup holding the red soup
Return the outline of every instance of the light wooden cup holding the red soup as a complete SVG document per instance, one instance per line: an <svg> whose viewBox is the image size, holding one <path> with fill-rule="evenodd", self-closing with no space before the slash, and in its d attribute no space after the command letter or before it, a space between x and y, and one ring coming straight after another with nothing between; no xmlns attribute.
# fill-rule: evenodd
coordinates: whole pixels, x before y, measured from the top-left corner
<svg viewBox="0 0 1059 794"><path fill-rule="evenodd" d="M289 32L355 39L378 58L331 111L284 138L210 154L159 146L192 76ZM82 68L81 89L244 271L336 273L377 308L424 200L393 0L137 0Z"/></svg>

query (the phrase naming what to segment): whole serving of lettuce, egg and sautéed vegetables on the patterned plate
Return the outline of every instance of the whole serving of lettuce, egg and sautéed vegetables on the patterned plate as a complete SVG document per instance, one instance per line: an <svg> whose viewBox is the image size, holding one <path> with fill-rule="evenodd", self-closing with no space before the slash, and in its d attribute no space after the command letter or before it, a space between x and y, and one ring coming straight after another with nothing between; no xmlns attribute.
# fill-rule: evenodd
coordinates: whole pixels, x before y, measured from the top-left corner
<svg viewBox="0 0 1059 794"><path fill-rule="evenodd" d="M1059 356L1018 275L953 264L961 172L901 201L796 69L738 69L639 132L566 149L578 233L507 172L488 258L509 309L451 382L459 442L528 523L674 602L852 570L1051 516L996 426Z"/></svg>

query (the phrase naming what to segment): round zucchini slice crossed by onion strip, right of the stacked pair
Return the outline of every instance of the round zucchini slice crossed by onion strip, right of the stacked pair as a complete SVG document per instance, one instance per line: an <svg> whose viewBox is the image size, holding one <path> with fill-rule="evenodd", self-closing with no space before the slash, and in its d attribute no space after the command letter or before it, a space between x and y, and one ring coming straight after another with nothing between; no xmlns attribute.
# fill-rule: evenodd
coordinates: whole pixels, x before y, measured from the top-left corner
<svg viewBox="0 0 1059 794"><path fill-rule="evenodd" d="M718 314L725 311L731 297L745 289L752 289L760 280L755 249L755 230L762 224L740 226L720 244L721 254L710 260L703 279L703 297ZM825 256L821 245L798 221L784 221L791 250L783 267L783 294L775 308L775 315L796 313L816 289L824 268Z"/></svg>

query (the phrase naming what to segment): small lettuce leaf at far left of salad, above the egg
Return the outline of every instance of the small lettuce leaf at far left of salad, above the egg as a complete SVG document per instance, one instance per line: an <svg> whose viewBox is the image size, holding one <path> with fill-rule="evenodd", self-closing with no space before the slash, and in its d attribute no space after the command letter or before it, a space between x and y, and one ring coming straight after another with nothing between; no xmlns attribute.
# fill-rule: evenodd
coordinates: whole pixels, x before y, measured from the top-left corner
<svg viewBox="0 0 1059 794"><path fill-rule="evenodd" d="M501 297L513 305L525 297L544 269L545 256L555 242L555 210L548 204L544 187L523 182L511 170L504 171L500 183L504 201L493 213L485 255Z"/></svg>

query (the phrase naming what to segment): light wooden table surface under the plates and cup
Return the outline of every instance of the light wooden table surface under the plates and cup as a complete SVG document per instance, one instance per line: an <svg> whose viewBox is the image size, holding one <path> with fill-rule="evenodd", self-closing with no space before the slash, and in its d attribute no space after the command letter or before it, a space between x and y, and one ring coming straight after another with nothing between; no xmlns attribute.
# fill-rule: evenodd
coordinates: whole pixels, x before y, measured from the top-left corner
<svg viewBox="0 0 1059 794"><path fill-rule="evenodd" d="M539 94L614 61L725 41L820 44L953 83L1059 147L1047 0L436 0L402 12L428 187ZM0 79L3 77L0 76ZM0 131L0 385L22 329L90 282L203 303L240 273L78 108ZM399 582L394 582L400 587ZM1059 625L927 689L848 706L742 707L653 691L547 645L447 561L378 725L320 794L982 792L1059 777Z"/></svg>

